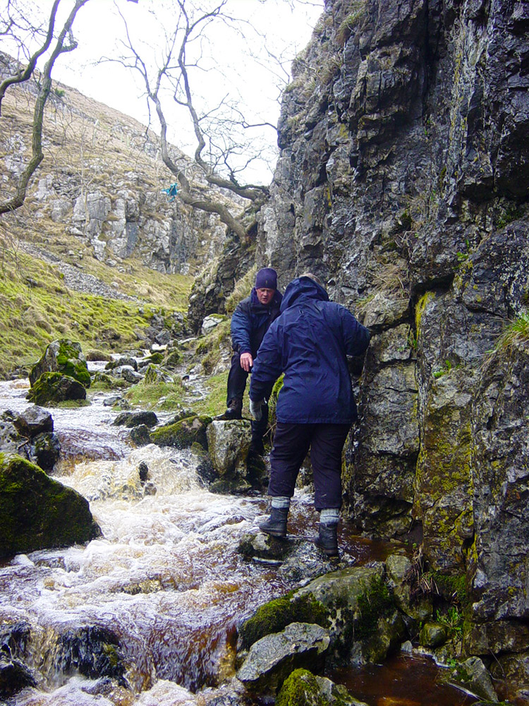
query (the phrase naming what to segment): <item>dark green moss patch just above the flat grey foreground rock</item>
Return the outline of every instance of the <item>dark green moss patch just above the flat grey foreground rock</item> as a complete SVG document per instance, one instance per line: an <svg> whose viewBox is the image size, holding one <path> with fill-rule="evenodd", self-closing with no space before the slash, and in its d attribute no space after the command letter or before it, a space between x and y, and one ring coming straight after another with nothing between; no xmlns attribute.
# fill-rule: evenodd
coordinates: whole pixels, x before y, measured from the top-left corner
<svg viewBox="0 0 529 706"><path fill-rule="evenodd" d="M239 628L239 636L244 647L250 647L265 635L279 633L290 623L317 623L326 628L329 618L323 604L311 594L296 598L287 594L260 606Z"/></svg>

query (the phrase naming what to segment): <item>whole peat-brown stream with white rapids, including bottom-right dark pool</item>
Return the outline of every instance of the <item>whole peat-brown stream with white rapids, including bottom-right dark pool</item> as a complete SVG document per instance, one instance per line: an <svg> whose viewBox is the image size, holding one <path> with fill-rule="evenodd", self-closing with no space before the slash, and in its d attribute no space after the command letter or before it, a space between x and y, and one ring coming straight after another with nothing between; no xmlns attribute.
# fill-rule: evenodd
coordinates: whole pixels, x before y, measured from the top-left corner
<svg viewBox="0 0 529 706"><path fill-rule="evenodd" d="M27 380L0 382L0 412L28 405ZM9 706L264 706L234 678L237 624L296 583L276 566L238 554L257 530L266 498L209 493L188 451L134 448L129 430L96 393L90 407L49 409L61 441L54 477L90 501L103 537L87 546L35 551L0 564L0 626L30 628L37 678ZM149 469L140 481L138 467ZM291 532L310 541L317 515L296 491ZM387 546L341 528L357 563ZM73 650L116 638L123 673L80 676ZM74 640L75 638L75 640ZM107 640L108 642L108 640ZM74 647L76 645L76 647ZM81 647L79 647L79 645ZM104 655L102 656L104 657ZM107 655L111 659L112 655ZM466 706L475 698L437 683L429 659L400 654L384 666L329 675L370 706Z"/></svg>

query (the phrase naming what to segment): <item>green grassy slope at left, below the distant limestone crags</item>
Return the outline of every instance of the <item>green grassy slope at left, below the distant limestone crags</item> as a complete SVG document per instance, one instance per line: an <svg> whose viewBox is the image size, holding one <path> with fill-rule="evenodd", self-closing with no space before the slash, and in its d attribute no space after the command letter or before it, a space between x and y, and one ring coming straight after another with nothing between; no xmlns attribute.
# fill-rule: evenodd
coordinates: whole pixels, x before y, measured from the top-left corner
<svg viewBox="0 0 529 706"><path fill-rule="evenodd" d="M68 250L72 261L81 254L78 242L75 245L76 251ZM61 251L67 246L67 242L55 242L48 249ZM128 261L127 272L116 272L90 253L83 254L84 273L95 275L116 292L138 297L137 301L110 299L70 289L59 265L12 246L0 246L0 252L0 377L36 361L57 337L79 341L84 352L137 347L153 313L164 316L187 309L192 277L162 275L135 261Z"/></svg>

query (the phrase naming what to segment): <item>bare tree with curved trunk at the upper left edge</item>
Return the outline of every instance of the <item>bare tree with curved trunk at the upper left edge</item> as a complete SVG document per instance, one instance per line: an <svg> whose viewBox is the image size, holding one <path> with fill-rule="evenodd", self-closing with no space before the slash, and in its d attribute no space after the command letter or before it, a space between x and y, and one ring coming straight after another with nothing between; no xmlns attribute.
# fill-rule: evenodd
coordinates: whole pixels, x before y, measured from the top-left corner
<svg viewBox="0 0 529 706"><path fill-rule="evenodd" d="M13 85L20 83L25 83L32 77L36 77L36 67L37 61L40 56L45 54L51 43L54 40L56 15L59 9L59 3L61 0L55 0L54 4L51 6L51 11L49 14L49 20L47 23L47 31L45 32L44 40L40 47L30 54L26 66L18 65L16 71L12 76L5 78L0 84L0 109L1 101L6 95L6 91ZM44 153L42 152L42 126L44 123L44 107L48 100L49 92L51 90L51 71L54 68L55 61L60 54L65 52L72 52L75 47L77 47L77 42L75 42L72 35L72 26L75 20L75 16L83 5L85 5L88 0L75 0L75 4L71 9L68 17L66 18L63 27L61 28L59 34L56 37L55 44L49 54L49 58L44 64L42 74L40 74L37 80L37 98L35 100L35 109L33 112L32 121L32 155L26 164L23 172L18 177L18 183L16 185L16 191L14 196L9 198L7 201L0 203L0 214L10 213L16 208L20 208L25 201L26 192L28 190L28 184L32 175L35 173L37 167L44 159ZM16 30L21 29L20 20L25 21L25 9L18 8L17 4L13 0L8 0L6 6L6 14L2 16L2 26L0 35L8 37L11 40L16 40L17 34ZM20 20L19 20L20 18ZM35 29L35 35L39 34L38 28ZM18 40L20 41L20 39ZM24 49L25 47L20 47ZM28 52L26 52L28 54Z"/></svg>

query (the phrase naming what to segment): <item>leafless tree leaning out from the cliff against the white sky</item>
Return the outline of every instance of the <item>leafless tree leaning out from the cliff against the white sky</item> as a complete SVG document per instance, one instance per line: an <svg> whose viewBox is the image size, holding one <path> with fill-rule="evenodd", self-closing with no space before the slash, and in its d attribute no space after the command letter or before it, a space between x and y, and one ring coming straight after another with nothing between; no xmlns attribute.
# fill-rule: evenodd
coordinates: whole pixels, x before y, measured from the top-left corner
<svg viewBox="0 0 529 706"><path fill-rule="evenodd" d="M267 186L248 184L241 181L241 173L256 158L251 150L250 140L241 135L254 128L275 126L269 122L247 119L237 101L222 97L216 104L199 107L197 100L197 75L207 71L207 61L203 47L208 42L209 30L224 24L233 32L243 32L242 20L229 13L229 0L176 0L175 13L171 17L171 31L164 37L162 59L152 68L145 47L135 43L126 18L126 54L120 62L140 73L145 84L145 92L154 107L159 124L162 147L162 160L178 181L178 196L183 203L207 213L216 213L221 222L227 225L241 239L248 240L255 227L255 214L268 196ZM167 20L166 20L167 23ZM255 28L251 28L254 33ZM161 47L157 47L158 52ZM272 56L272 54L270 54ZM219 57L219 61L221 58ZM171 156L168 143L168 119L171 103L185 109L195 135L194 167L188 160L178 160ZM169 108L168 108L169 105ZM204 182L212 189L205 189ZM214 189L216 187L217 189ZM251 202L253 217L243 219L242 208L234 209L233 203L219 196L218 189Z"/></svg>

